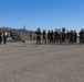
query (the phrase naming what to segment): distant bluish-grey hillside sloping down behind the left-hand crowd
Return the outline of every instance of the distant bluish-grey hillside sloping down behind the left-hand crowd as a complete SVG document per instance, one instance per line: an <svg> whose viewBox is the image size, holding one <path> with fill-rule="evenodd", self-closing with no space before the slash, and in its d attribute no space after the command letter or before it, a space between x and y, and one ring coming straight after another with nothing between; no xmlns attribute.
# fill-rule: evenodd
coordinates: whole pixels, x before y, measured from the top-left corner
<svg viewBox="0 0 84 82"><path fill-rule="evenodd" d="M17 28L11 28L11 27L0 27L0 30L12 31L12 32L17 32L20 34L35 34L33 31L28 31L28 30L23 30L23 28L17 30Z"/></svg>

